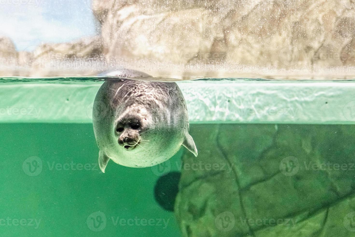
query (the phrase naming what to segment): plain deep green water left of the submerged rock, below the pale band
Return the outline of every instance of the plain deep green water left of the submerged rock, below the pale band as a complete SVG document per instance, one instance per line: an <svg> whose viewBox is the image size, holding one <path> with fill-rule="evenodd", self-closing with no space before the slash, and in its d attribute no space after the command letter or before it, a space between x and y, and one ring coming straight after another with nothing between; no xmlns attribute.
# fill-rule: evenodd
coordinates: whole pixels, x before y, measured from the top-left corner
<svg viewBox="0 0 355 237"><path fill-rule="evenodd" d="M0 130L0 236L180 236L174 214L154 199L159 173L113 162L102 173L91 124ZM38 159L42 165L33 163Z"/></svg>

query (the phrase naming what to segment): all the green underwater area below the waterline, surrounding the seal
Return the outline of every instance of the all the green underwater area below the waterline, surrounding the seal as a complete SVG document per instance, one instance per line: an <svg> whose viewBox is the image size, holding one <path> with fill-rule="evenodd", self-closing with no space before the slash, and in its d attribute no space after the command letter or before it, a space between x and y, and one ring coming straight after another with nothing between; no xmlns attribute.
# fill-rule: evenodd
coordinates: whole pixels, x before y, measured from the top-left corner
<svg viewBox="0 0 355 237"><path fill-rule="evenodd" d="M102 173L99 80L0 79L0 236L355 237L353 82L178 83L198 157Z"/></svg>

